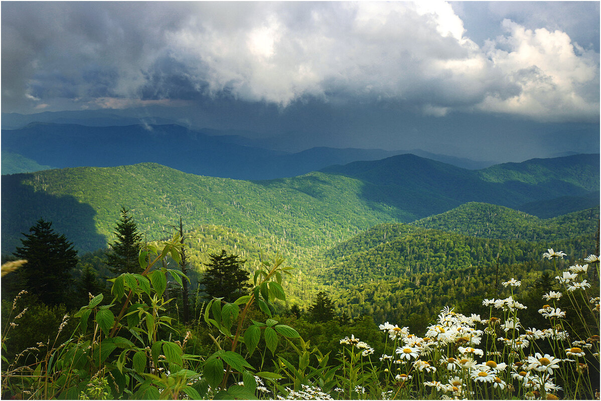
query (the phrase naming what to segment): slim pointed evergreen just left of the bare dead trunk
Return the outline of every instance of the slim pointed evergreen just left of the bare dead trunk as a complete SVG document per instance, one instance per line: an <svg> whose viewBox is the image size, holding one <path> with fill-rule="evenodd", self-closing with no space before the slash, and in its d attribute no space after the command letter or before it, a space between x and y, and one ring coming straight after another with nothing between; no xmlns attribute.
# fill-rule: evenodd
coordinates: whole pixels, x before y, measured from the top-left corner
<svg viewBox="0 0 601 401"><path fill-rule="evenodd" d="M113 234L117 241L111 244L112 252L106 254L106 264L111 273L117 276L121 273L142 273L138 262L142 235L138 233L138 225L126 208L121 208L121 219Z"/></svg>

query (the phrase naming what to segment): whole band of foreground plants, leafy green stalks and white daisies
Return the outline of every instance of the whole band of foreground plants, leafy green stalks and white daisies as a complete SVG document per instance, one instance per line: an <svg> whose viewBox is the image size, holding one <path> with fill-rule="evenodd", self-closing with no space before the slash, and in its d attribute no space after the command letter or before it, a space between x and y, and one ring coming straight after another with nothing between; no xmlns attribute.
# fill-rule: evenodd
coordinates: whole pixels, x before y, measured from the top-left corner
<svg viewBox="0 0 601 401"><path fill-rule="evenodd" d="M6 343L29 312L14 300L3 313L2 397L23 399L591 399L599 377L599 258L567 271L563 252L543 255L554 285L538 310L544 325L523 319L519 280L502 282L505 298L485 299L487 313L446 307L423 333L359 319L331 349L312 346L311 325L275 316L286 300L290 268L263 260L253 288L231 303L213 299L201 325L182 327L166 314L167 277L178 260L175 236L141 250L140 274L112 280L112 300L91 296L58 334L9 360ZM591 283L593 285L591 286ZM554 288L554 287L552 287ZM22 296L24 294L20 294ZM90 294L91 295L91 294ZM296 324L290 323L296 322ZM288 324L286 324L288 323ZM294 326L297 325L299 330ZM69 334L67 334L69 333ZM356 336L355 336L356 334ZM361 337L359 337L361 335ZM365 336L367 337L365 337ZM61 337L62 336L62 337ZM313 337L311 337L313 339ZM383 340L383 344L382 344ZM376 353L377 351L377 353Z"/></svg>

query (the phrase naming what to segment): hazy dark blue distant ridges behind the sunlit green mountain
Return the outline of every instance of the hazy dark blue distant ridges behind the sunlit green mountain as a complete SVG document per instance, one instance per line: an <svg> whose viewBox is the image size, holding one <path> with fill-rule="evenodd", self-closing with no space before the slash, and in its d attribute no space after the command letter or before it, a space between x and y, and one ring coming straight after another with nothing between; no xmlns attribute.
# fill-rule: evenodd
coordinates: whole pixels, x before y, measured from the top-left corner
<svg viewBox="0 0 601 401"><path fill-rule="evenodd" d="M198 175L272 179L408 152L468 169L493 164L421 149L321 146L287 152L278 150L277 138L252 138L239 131L208 128L193 130L163 118L135 119L102 112L5 113L2 127L2 151L12 157L4 161L3 173L32 171L37 165L109 167L153 162ZM29 159L33 167L19 170L10 164L16 155Z"/></svg>

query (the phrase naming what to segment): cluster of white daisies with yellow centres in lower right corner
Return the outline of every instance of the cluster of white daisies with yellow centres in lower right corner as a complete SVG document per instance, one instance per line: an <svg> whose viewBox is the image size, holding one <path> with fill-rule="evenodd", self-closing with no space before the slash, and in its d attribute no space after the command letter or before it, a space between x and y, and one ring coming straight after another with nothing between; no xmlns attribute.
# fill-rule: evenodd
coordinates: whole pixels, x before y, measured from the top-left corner
<svg viewBox="0 0 601 401"><path fill-rule="evenodd" d="M561 251L549 249L543 258L564 256ZM436 323L427 327L424 337L409 333L407 327L381 324L380 330L393 340L392 355L380 357L388 379L396 382L395 387L406 389L404 396L409 397L541 399L544 395L546 399L557 399L556 394L563 390L557 384L559 376L566 381L566 375L573 372L582 375L588 369L585 357L599 362L598 331L589 333L586 340L572 340L564 329L569 327L563 324L566 310L557 306L561 297L568 294L573 299L574 292L582 291L590 310L597 312L598 321L599 297L588 297L590 284L579 278L587 274L590 265L599 264L599 257L590 255L585 262L588 264L572 265L555 277L564 285L564 292L548 291L543 295L549 304L538 313L548 319L549 328L539 330L520 321L519 311L526 306L513 297L513 288L521 285L516 279L502 283L512 289L510 297L483 301L490 307L488 319L465 316L446 307ZM542 352L549 344L555 345L552 354Z"/></svg>

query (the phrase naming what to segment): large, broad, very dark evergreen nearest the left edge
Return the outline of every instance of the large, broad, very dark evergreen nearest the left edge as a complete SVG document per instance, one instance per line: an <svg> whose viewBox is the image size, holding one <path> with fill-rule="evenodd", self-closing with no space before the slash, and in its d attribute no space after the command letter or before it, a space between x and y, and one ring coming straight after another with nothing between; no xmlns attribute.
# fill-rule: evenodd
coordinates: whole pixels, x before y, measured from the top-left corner
<svg viewBox="0 0 601 401"><path fill-rule="evenodd" d="M44 304L66 303L72 284L71 270L77 264L77 251L63 234L54 232L51 222L40 219L29 233L23 233L23 246L14 252L17 258L27 260L17 270L23 289L37 295Z"/></svg>

